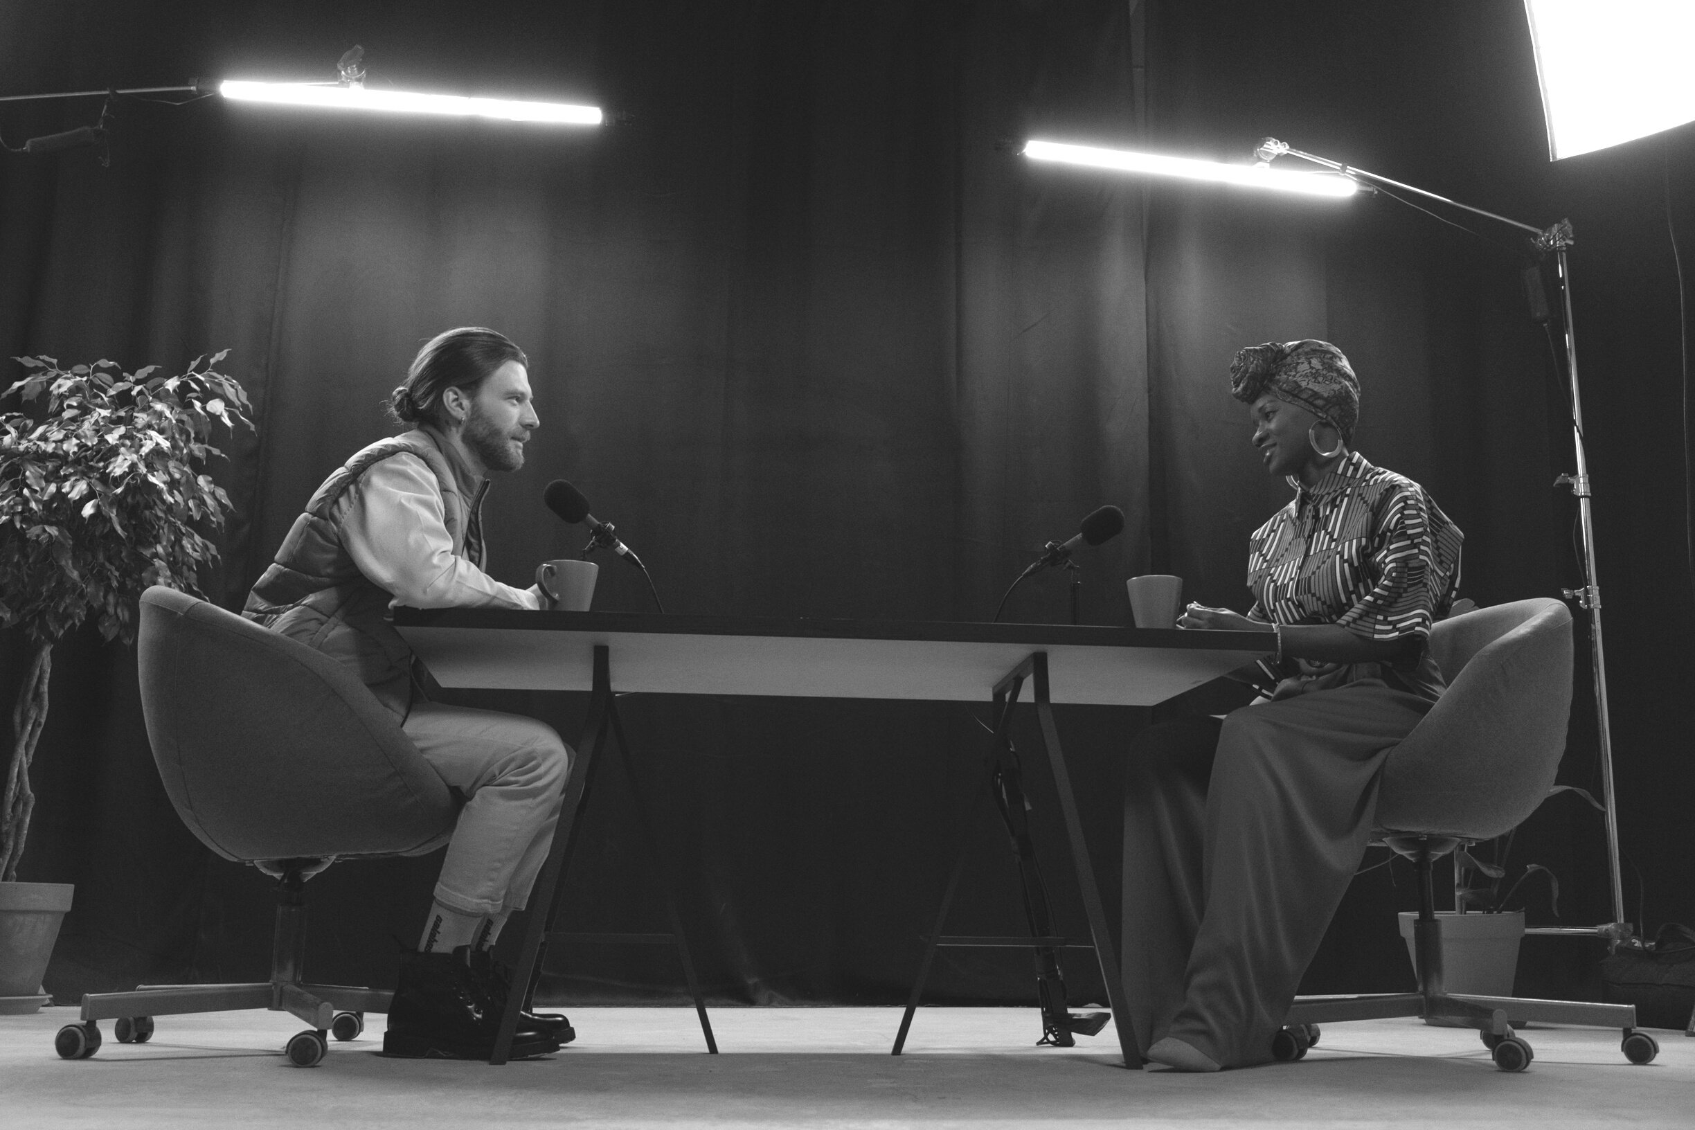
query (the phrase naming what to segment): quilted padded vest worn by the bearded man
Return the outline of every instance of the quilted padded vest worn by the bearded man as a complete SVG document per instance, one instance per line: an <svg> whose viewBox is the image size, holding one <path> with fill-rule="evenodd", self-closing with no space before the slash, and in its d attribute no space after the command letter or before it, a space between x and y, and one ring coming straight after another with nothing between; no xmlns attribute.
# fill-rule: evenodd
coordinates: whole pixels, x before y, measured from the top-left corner
<svg viewBox="0 0 1695 1130"><path fill-rule="evenodd" d="M466 500L434 437L412 430L364 447L324 479L290 527L276 561L247 593L241 615L347 664L403 722L412 708L412 649L388 617L393 595L366 579L342 544L346 508L337 507L361 474L398 454L429 464L441 488L453 552L483 566L478 520L483 493Z"/></svg>

